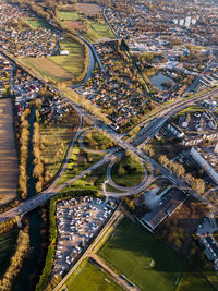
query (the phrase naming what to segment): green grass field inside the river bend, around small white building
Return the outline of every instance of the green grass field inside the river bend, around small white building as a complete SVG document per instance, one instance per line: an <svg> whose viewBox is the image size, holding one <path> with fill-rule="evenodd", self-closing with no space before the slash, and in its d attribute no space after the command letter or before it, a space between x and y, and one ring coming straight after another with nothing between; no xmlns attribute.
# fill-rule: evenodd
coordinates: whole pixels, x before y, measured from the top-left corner
<svg viewBox="0 0 218 291"><path fill-rule="evenodd" d="M60 49L68 50L69 56L51 56L48 59L74 76L78 76L84 70L83 46L70 38L65 38L61 41Z"/></svg>

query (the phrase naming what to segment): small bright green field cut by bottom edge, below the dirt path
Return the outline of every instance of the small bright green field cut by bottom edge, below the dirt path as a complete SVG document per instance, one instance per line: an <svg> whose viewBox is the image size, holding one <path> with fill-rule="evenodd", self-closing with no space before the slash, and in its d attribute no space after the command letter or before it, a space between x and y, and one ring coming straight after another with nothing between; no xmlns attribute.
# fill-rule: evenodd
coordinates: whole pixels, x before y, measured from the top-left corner
<svg viewBox="0 0 218 291"><path fill-rule="evenodd" d="M121 291L106 272L101 271L92 263L87 263L80 271L78 276L66 282L69 291Z"/></svg>

